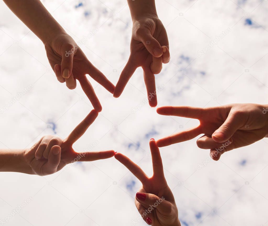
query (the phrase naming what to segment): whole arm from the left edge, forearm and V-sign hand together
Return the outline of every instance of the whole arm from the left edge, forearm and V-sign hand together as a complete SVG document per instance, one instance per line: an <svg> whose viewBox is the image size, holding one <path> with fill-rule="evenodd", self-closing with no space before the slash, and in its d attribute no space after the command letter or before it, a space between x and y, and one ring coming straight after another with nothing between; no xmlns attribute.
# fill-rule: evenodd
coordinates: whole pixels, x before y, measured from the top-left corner
<svg viewBox="0 0 268 226"><path fill-rule="evenodd" d="M27 150L0 150L0 171L21 172L46 176L61 170L65 165L76 161L95 161L111 158L114 151L77 153L72 145L97 118L98 112L92 110L66 139L44 136Z"/></svg>

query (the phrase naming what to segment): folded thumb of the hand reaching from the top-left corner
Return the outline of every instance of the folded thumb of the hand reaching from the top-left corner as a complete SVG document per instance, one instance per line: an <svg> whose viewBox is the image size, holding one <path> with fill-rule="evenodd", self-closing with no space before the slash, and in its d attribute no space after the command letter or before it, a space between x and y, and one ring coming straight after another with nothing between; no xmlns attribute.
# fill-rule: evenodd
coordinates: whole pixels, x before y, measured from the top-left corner
<svg viewBox="0 0 268 226"><path fill-rule="evenodd" d="M68 79L73 69L73 56L77 51L78 46L72 44L65 44L61 53L61 74L62 77Z"/></svg>

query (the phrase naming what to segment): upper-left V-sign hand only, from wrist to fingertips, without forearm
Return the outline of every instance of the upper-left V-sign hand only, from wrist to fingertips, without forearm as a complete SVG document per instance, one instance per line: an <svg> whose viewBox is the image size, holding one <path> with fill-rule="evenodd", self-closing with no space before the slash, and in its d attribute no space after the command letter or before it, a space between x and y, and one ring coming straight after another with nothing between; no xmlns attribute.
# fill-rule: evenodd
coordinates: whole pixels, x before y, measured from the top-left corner
<svg viewBox="0 0 268 226"><path fill-rule="evenodd" d="M57 34L50 41L45 42L45 49L58 81L66 82L69 89L74 89L77 79L94 109L98 112L101 111L101 103L86 74L89 74L111 93L114 92L114 85L90 63L72 37L66 33Z"/></svg>

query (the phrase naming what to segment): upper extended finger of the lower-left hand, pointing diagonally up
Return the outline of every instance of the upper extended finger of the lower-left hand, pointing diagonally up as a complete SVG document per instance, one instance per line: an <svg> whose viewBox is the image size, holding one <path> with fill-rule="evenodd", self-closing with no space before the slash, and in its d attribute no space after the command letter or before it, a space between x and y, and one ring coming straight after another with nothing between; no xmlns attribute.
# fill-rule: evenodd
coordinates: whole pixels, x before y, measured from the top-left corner
<svg viewBox="0 0 268 226"><path fill-rule="evenodd" d="M71 144L75 143L85 133L85 131L87 131L88 127L95 121L97 116L98 112L96 110L92 110L70 133L66 139L66 142Z"/></svg>

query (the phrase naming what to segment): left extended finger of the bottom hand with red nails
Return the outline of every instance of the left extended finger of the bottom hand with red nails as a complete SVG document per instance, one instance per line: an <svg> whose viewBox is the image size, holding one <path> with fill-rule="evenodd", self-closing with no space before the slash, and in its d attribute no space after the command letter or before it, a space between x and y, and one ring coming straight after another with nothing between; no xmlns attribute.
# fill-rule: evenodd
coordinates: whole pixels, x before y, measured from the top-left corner
<svg viewBox="0 0 268 226"><path fill-rule="evenodd" d="M128 157L118 152L114 155L114 157L126 168L128 168L129 171L133 173L133 175L137 177L140 182L142 182L142 184L146 183L148 176L136 163L132 162Z"/></svg>

